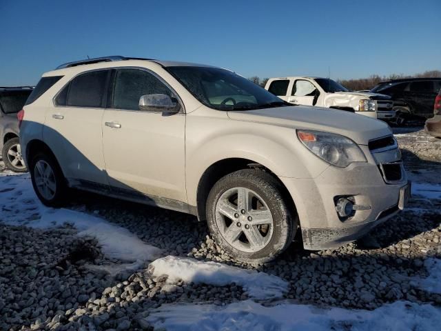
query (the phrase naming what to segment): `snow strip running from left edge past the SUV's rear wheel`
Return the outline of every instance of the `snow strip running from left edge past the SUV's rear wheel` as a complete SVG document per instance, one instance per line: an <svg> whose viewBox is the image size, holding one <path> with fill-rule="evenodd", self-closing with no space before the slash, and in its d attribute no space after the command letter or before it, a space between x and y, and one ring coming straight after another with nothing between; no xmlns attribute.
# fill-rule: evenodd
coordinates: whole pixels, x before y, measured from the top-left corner
<svg viewBox="0 0 441 331"><path fill-rule="evenodd" d="M84 212L48 208L35 195L29 174L0 176L0 222L50 229L66 223L79 231L79 236L93 236L103 253L121 261L151 261L161 250L147 245L125 228Z"/></svg>

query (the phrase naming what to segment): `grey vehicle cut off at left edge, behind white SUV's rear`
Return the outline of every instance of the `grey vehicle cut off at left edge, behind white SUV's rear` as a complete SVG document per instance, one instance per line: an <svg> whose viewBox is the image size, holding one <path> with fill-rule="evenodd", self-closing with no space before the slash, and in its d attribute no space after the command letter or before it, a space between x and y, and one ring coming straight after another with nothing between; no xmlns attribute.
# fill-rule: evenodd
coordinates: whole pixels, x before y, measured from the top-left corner
<svg viewBox="0 0 441 331"><path fill-rule="evenodd" d="M32 87L0 87L0 151L6 168L25 172L19 144L19 120L17 113L23 108Z"/></svg>

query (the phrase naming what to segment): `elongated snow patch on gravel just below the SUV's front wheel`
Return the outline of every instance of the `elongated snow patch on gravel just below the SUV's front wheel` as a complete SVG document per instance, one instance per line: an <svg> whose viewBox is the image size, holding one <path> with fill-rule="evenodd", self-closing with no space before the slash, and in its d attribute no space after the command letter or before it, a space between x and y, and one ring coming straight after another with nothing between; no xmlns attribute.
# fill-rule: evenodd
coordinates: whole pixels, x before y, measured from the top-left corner
<svg viewBox="0 0 441 331"><path fill-rule="evenodd" d="M168 256L153 261L150 266L154 268L155 277L167 274L167 283L176 283L179 279L216 286L236 283L254 299L280 298L288 290L288 283L274 275L213 261Z"/></svg>

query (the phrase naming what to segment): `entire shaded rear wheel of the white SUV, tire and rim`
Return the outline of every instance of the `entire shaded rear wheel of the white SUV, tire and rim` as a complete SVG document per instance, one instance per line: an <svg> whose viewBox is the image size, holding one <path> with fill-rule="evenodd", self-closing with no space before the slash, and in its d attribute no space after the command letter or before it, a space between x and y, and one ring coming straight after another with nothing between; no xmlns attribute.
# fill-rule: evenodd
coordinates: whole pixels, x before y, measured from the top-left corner
<svg viewBox="0 0 441 331"><path fill-rule="evenodd" d="M30 161L32 186L40 201L48 207L59 207L65 200L67 186L63 172L54 157L39 153Z"/></svg>

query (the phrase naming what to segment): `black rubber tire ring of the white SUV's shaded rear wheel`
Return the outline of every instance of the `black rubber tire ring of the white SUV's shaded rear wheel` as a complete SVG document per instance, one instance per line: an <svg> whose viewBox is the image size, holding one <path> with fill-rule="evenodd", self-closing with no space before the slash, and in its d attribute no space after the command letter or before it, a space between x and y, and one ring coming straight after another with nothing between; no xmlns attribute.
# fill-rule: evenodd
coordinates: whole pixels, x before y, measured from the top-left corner
<svg viewBox="0 0 441 331"><path fill-rule="evenodd" d="M50 168L52 168L55 180L55 190L54 196L51 199L46 199L45 197L43 197L43 195L37 188L37 184L35 182L35 172L37 170L35 168L35 165L38 161L44 161L45 163L48 163L48 165L50 165ZM47 205L48 207L61 207L65 203L67 197L68 186L66 185L65 177L57 160L51 154L39 152L38 154L34 155L34 157L32 157L32 159L30 160L29 168L32 186L34 187L35 194L37 194L37 197L39 197L43 205Z"/></svg>

